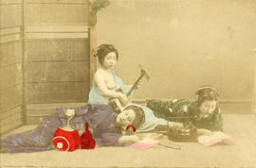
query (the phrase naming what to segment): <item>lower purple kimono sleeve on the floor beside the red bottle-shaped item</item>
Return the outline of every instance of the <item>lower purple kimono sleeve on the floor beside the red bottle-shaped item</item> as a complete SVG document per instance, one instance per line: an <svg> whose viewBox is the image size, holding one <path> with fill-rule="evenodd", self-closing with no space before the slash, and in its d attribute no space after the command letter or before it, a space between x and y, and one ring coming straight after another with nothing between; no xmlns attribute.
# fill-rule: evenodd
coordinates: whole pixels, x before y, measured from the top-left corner
<svg viewBox="0 0 256 168"><path fill-rule="evenodd" d="M119 145L119 138L121 137L120 133L102 133L101 138L97 139L97 144L99 145Z"/></svg>

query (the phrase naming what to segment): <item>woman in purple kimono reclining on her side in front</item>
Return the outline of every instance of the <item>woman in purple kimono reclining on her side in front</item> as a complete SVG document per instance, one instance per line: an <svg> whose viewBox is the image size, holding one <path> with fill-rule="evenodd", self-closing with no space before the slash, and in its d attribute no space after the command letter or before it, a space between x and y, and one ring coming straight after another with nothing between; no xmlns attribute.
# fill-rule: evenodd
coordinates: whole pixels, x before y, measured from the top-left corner
<svg viewBox="0 0 256 168"><path fill-rule="evenodd" d="M118 114L107 105L88 104L75 109L70 126L82 130L87 123L98 145L125 145L137 142L137 136L122 135L123 128L129 125L138 127L143 122L144 113L135 106L129 106ZM66 109L63 108L35 129L1 140L1 151L16 153L51 150L55 131L65 125Z"/></svg>

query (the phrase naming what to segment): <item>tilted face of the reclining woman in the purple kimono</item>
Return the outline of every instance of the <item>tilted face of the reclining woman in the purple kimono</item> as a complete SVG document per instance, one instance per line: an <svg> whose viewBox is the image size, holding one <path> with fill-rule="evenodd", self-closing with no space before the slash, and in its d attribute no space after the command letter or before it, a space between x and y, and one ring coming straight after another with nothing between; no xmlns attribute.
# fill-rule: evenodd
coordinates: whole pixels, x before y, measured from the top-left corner
<svg viewBox="0 0 256 168"><path fill-rule="evenodd" d="M132 125L132 123L136 119L136 113L133 109L124 109L121 113L119 113L116 122L120 126L128 126Z"/></svg>

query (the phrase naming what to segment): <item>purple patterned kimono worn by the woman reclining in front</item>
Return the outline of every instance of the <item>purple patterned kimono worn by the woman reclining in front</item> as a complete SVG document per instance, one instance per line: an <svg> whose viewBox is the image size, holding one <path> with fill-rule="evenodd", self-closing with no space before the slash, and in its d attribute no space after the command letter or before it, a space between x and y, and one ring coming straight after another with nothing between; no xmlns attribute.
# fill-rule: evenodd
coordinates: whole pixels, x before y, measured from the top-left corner
<svg viewBox="0 0 256 168"><path fill-rule="evenodd" d="M53 136L59 127L66 126L66 109L58 109L56 113L35 129L19 134L9 135L0 140L1 152L35 152L53 149ZM118 145L121 137L119 126L112 126L117 118L117 113L107 105L86 105L76 108L76 115L70 121L70 126L81 130L87 123L91 127L93 137L98 145Z"/></svg>

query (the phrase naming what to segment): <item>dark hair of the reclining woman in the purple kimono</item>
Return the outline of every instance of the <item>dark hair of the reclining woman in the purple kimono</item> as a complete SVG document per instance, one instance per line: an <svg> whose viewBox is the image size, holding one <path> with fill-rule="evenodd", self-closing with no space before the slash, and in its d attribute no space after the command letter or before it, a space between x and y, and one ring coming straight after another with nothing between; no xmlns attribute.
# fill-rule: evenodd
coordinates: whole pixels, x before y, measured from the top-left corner
<svg viewBox="0 0 256 168"><path fill-rule="evenodd" d="M130 105L130 106L126 107L124 110L126 110L126 109L133 109L135 111L136 119L132 123L133 126L138 128L145 122L145 113L144 113L143 109L141 109L137 106L134 106L134 105Z"/></svg>

